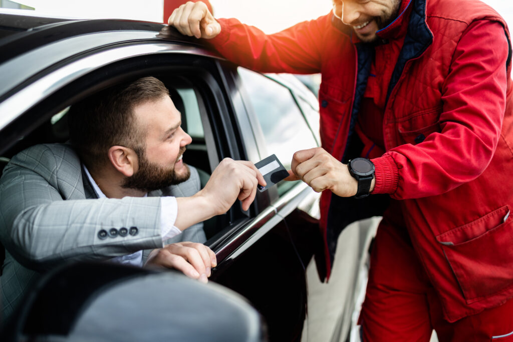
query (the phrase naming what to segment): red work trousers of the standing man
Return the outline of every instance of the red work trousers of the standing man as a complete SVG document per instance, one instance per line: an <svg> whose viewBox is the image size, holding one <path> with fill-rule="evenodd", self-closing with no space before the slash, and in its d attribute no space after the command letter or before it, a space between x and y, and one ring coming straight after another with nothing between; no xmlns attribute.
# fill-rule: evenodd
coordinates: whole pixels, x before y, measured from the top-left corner
<svg viewBox="0 0 513 342"><path fill-rule="evenodd" d="M443 318L440 299L413 250L405 228L383 219L370 257L360 314L364 342L513 341L513 299L454 323Z"/></svg>

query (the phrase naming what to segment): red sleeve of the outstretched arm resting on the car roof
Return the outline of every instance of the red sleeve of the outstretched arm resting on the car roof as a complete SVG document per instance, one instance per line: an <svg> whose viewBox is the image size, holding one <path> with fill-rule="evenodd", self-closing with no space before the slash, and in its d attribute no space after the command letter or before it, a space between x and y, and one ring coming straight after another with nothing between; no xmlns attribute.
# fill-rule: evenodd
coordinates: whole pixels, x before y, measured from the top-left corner
<svg viewBox="0 0 513 342"><path fill-rule="evenodd" d="M231 62L260 72L321 71L322 42L330 29L330 15L269 35L237 19L218 21L221 33L207 44Z"/></svg>

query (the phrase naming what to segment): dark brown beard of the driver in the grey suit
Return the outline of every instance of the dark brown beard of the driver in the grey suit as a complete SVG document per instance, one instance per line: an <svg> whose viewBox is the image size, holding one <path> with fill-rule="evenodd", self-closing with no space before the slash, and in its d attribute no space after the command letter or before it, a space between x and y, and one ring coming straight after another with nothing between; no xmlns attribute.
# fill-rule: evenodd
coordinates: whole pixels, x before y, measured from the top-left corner
<svg viewBox="0 0 513 342"><path fill-rule="evenodd" d="M182 147L180 155L184 152L185 147ZM121 185L123 188L150 192L185 182L191 175L190 169L186 164L184 164L186 172L184 174L176 174L174 167L166 168L151 163L146 158L144 150L137 153L137 157L139 158L139 170L130 177L125 178Z"/></svg>

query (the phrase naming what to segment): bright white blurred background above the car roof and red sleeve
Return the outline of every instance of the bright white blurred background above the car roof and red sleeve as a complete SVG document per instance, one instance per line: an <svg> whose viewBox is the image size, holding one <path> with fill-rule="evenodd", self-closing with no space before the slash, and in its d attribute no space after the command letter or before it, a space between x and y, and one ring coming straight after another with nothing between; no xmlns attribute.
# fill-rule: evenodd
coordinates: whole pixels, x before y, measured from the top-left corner
<svg viewBox="0 0 513 342"><path fill-rule="evenodd" d="M0 0L0 7L33 10L52 16L125 18L167 22L172 10L186 0ZM513 25L513 2L484 0ZM331 0L210 0L214 16L236 17L241 22L273 33L331 10ZM164 19L165 18L165 19Z"/></svg>

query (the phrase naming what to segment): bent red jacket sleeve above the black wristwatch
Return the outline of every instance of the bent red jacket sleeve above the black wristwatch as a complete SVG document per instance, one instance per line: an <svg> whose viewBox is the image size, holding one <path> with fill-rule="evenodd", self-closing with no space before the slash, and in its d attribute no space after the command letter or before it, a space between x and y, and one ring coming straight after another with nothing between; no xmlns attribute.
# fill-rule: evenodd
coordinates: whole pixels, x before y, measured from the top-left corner
<svg viewBox="0 0 513 342"><path fill-rule="evenodd" d="M467 28L442 89L442 131L372 159L373 193L397 199L439 195L484 172L502 129L508 52L501 24L478 21Z"/></svg>

